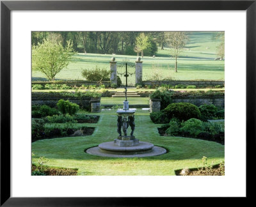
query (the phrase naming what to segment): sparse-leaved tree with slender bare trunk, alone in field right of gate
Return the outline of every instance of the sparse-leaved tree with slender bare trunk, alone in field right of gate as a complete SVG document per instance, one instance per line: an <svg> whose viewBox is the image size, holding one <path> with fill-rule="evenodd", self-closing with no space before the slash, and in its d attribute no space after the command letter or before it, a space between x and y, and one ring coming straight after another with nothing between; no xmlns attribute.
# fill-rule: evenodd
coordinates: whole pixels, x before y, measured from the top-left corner
<svg viewBox="0 0 256 207"><path fill-rule="evenodd" d="M168 32L168 42L172 47L171 54L175 57L175 72L177 72L177 59L180 52L188 43L188 36L184 32Z"/></svg>

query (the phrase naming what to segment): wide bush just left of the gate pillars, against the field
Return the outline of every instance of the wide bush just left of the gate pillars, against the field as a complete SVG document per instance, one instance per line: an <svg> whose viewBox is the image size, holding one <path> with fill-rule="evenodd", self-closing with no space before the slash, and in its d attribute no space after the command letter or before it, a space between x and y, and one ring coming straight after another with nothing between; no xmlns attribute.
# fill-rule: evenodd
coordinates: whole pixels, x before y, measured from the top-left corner
<svg viewBox="0 0 256 207"><path fill-rule="evenodd" d="M106 68L99 68L95 66L93 69L84 69L82 71L82 76L86 78L87 81L109 81L110 71Z"/></svg>

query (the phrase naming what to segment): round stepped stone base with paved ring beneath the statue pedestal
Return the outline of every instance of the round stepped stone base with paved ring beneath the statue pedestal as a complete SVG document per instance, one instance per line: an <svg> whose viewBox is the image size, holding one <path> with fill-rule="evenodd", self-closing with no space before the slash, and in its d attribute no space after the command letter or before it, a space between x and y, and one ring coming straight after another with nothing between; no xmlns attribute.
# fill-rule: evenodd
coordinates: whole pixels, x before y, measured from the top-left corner
<svg viewBox="0 0 256 207"><path fill-rule="evenodd" d="M104 142L86 150L86 153L102 157L149 157L163 155L166 150L149 142L139 142L136 146L116 146L114 142Z"/></svg>

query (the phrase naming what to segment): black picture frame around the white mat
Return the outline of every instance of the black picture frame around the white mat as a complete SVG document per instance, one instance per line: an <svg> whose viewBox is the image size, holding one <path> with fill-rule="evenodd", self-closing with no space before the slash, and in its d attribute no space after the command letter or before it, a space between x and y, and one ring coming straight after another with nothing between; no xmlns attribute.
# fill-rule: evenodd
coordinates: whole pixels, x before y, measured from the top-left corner
<svg viewBox="0 0 256 207"><path fill-rule="evenodd" d="M249 169L250 164L255 162L253 153L256 145L255 1L1 1L1 206L144 206L146 203L150 204L153 199L10 197L10 12L12 10L246 10L246 197L252 197L253 190L250 189L255 183L255 178Z"/></svg>

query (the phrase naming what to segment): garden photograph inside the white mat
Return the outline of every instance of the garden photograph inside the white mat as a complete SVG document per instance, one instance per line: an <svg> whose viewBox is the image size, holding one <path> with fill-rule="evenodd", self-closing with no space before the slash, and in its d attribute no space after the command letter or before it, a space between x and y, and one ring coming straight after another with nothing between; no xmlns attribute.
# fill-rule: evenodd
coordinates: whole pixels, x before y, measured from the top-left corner
<svg viewBox="0 0 256 207"><path fill-rule="evenodd" d="M31 176L225 176L225 31L31 31Z"/></svg>

